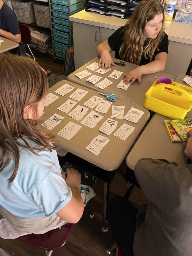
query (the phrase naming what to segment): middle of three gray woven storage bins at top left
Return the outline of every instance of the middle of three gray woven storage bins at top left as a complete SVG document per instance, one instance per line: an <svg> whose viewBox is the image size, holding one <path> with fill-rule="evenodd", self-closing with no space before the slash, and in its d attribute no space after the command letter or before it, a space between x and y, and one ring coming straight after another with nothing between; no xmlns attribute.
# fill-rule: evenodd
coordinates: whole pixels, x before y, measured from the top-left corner
<svg viewBox="0 0 192 256"><path fill-rule="evenodd" d="M35 22L33 3L35 1L12 0L13 10L17 16L17 21L25 24Z"/></svg>

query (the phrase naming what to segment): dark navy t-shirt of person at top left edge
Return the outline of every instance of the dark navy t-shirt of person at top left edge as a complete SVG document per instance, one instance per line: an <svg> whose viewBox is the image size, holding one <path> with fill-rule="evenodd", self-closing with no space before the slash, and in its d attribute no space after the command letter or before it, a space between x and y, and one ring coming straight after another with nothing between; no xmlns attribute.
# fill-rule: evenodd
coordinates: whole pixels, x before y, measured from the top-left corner
<svg viewBox="0 0 192 256"><path fill-rule="evenodd" d="M6 3L0 9L0 28L13 35L20 34L17 16Z"/></svg>

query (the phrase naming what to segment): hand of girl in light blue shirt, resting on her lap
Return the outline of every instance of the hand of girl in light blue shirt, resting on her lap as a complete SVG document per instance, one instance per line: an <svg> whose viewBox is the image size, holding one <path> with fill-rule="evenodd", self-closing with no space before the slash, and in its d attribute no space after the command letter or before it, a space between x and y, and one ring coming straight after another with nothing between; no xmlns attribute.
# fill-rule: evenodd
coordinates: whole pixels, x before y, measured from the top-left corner
<svg viewBox="0 0 192 256"><path fill-rule="evenodd" d="M65 179L65 181L67 183L67 186L69 186L70 188L77 187L79 189L81 184L81 174L78 172L78 170L73 168L67 168L66 173L67 178ZM63 175L65 175L64 172L62 173L62 177Z"/></svg>

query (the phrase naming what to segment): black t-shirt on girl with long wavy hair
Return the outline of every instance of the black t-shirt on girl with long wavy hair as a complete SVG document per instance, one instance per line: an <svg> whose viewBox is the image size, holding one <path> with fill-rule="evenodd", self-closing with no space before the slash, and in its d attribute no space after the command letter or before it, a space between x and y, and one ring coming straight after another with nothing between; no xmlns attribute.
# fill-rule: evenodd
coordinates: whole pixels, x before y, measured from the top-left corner
<svg viewBox="0 0 192 256"><path fill-rule="evenodd" d="M125 33L124 27L120 27L108 38L109 46L111 47L111 49L113 51L115 51L115 58L116 59L120 59L119 49L120 49L120 47L123 43L124 33ZM146 43L147 43L147 41L144 42L143 47L145 47ZM151 61L153 61L155 59L155 55L157 55L160 52L167 52L168 53L168 45L169 45L168 36L164 32L164 37L158 45L159 51L157 49L155 50L154 56L153 56ZM147 59L145 59L144 54L142 54L141 61L140 61L139 65L142 66L142 65L145 65L145 64L147 64L151 61L150 61L149 57Z"/></svg>

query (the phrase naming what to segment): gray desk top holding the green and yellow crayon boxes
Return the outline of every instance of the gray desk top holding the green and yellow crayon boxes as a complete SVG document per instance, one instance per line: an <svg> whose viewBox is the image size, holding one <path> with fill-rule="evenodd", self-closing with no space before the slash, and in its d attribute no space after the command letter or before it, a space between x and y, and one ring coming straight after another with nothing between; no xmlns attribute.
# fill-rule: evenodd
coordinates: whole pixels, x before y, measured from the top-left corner
<svg viewBox="0 0 192 256"><path fill-rule="evenodd" d="M185 77L186 75L184 74L178 75L174 81L187 85L183 81ZM186 116L191 117L191 112L192 111L188 112ZM151 157L154 159L164 158L172 162L185 164L182 153L182 143L171 142L164 120L169 120L169 118L157 113L154 114L126 157L126 164L129 168L134 170L137 161L143 157Z"/></svg>

